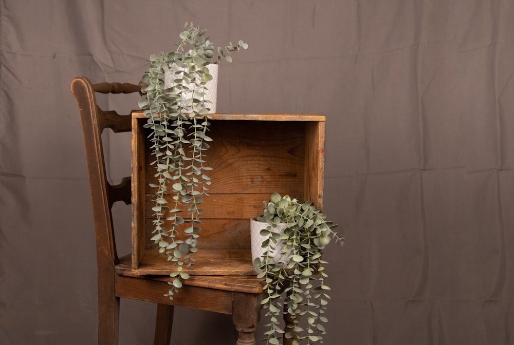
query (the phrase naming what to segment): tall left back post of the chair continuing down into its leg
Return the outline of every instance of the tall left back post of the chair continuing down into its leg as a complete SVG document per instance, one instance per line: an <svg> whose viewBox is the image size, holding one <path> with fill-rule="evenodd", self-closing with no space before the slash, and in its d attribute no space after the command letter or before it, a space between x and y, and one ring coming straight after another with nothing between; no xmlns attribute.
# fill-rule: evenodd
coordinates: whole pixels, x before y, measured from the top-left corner
<svg viewBox="0 0 514 345"><path fill-rule="evenodd" d="M102 123L96 102L94 86L87 78L75 78L71 92L77 99L87 170L91 205L95 224L98 267L98 343L118 343L119 296L115 294L115 266L119 263L114 242L111 206L115 200L130 199L130 189L115 188L108 184L101 132L108 124ZM121 121L130 119L124 118ZM126 193L126 195L123 195Z"/></svg>

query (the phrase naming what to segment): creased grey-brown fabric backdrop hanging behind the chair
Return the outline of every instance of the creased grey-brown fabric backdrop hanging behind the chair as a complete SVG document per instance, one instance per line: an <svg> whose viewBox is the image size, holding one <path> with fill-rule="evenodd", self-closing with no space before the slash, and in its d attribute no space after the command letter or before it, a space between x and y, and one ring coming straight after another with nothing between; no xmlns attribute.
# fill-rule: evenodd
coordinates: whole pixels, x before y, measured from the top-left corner
<svg viewBox="0 0 514 345"><path fill-rule="evenodd" d="M325 213L347 239L326 253L327 344L514 343L514 1L1 0L0 11L1 344L95 343L69 84L137 83L186 21L215 44L250 45L221 68L218 112L327 117ZM119 181L130 138L106 149ZM125 253L130 208L115 212ZM151 343L154 311L122 301L120 343ZM205 339L234 343L230 317L177 310L174 343Z"/></svg>

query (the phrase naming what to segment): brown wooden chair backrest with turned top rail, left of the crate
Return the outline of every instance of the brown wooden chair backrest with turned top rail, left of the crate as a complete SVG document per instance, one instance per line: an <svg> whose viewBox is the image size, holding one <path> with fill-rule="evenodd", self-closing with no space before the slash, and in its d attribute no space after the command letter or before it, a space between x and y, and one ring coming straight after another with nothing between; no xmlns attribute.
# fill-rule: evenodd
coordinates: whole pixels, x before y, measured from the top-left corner
<svg viewBox="0 0 514 345"><path fill-rule="evenodd" d="M113 110L102 110L97 104L95 92L132 93L139 92L141 86L128 83L91 84L84 77L75 78L71 82L71 92L77 99L82 122L99 270L100 267L114 269L114 265L119 261L116 253L111 207L116 201L124 201L126 204L131 202L130 177L124 178L120 184L115 186L107 181L102 131L105 128L111 128L114 132L131 131L131 116L130 114L119 115Z"/></svg>

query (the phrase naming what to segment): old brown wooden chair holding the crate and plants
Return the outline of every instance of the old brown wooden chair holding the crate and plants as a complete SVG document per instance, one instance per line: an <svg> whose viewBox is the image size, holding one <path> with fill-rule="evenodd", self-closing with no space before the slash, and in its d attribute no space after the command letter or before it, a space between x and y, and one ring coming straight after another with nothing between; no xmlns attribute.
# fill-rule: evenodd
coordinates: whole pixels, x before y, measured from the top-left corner
<svg viewBox="0 0 514 345"><path fill-rule="evenodd" d="M141 85L120 83L91 84L84 77L71 83L77 99L95 223L98 265L98 343L117 344L120 297L157 303L154 344L169 344L174 305L231 314L239 337L236 344L255 344L253 332L259 322L263 282L254 276L192 276L173 300L164 296L172 278L137 275L131 267L131 254L118 257L111 207L117 201L131 202L130 178L119 185L107 182L102 149L102 131L131 130L131 116L103 111L95 92L138 92ZM131 236L131 229L126 229Z"/></svg>

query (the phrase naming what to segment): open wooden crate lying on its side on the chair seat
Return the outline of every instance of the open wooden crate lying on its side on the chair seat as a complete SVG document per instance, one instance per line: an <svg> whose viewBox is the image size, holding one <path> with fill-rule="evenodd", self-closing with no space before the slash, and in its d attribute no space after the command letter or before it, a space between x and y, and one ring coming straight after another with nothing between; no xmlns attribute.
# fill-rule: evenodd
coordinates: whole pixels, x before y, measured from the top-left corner
<svg viewBox="0 0 514 345"><path fill-rule="evenodd" d="M132 119L132 269L137 274L174 271L153 241L154 160L141 111ZM254 275L250 221L274 192L323 204L325 117L295 114L213 114L207 151L212 167L204 197L194 275Z"/></svg>

